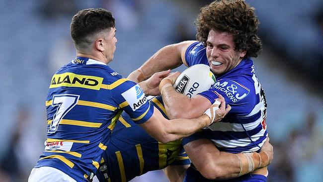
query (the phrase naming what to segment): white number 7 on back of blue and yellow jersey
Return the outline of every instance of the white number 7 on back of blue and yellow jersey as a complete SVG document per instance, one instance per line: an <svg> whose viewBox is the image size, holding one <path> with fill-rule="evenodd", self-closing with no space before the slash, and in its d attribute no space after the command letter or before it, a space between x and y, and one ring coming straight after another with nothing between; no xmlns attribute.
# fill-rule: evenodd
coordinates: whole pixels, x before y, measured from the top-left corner
<svg viewBox="0 0 323 182"><path fill-rule="evenodd" d="M80 95L60 94L53 96L52 106L58 106L48 133L55 133L63 117L78 103Z"/></svg>

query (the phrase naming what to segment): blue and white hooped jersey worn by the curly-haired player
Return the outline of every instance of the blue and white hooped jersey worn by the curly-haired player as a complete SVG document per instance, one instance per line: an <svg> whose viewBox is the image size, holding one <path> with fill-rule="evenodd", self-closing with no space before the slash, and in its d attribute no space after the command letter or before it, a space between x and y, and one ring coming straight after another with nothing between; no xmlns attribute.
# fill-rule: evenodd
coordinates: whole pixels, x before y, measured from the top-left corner
<svg viewBox="0 0 323 182"><path fill-rule="evenodd" d="M208 65L206 48L199 42L188 47L185 59L188 66ZM199 94L211 103L221 94L232 109L220 122L183 139L183 144L208 138L219 150L230 153L260 149L267 138L267 104L251 59L243 59L237 67L217 77L217 82L208 91Z"/></svg>

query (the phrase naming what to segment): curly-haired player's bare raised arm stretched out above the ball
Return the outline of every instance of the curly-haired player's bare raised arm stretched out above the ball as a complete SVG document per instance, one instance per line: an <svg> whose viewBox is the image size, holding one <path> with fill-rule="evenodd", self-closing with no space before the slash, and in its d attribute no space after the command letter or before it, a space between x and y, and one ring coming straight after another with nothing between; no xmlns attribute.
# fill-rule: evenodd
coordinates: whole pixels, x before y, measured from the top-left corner
<svg viewBox="0 0 323 182"><path fill-rule="evenodd" d="M186 65L184 58L185 51L194 42L196 41L184 41L161 48L140 68L132 72L128 76L128 79L140 83L150 78L154 73L177 68L183 63Z"/></svg>

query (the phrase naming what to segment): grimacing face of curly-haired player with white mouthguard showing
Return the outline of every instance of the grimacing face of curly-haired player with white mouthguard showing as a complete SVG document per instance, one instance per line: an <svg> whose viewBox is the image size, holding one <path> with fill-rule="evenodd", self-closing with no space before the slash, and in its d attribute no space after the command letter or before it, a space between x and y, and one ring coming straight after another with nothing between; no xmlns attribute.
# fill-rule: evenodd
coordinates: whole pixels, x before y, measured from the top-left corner
<svg viewBox="0 0 323 182"><path fill-rule="evenodd" d="M210 30L206 41L206 56L216 76L229 72L241 62L245 51L236 51L234 48L231 33Z"/></svg>

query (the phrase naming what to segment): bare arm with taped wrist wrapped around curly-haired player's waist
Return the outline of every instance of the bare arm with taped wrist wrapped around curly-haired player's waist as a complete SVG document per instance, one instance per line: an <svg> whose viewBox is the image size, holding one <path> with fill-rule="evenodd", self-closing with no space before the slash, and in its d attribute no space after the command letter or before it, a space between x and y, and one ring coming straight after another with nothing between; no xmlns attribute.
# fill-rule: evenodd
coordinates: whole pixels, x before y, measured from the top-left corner
<svg viewBox="0 0 323 182"><path fill-rule="evenodd" d="M184 149L201 175L212 180L240 177L268 166L273 159L273 148L269 143L269 138L262 146L260 153L220 152L208 139L191 141L184 145Z"/></svg>

